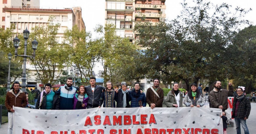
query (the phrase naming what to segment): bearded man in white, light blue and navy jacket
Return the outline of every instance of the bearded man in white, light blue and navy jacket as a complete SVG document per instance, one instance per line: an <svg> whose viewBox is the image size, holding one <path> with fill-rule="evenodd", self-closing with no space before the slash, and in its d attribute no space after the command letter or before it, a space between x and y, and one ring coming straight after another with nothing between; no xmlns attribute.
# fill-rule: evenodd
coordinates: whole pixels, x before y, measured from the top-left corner
<svg viewBox="0 0 256 134"><path fill-rule="evenodd" d="M74 101L73 97L77 89L72 86L73 79L68 77L67 82L64 86L61 86L58 91L55 93L60 95L60 109L68 110L73 109Z"/></svg>

